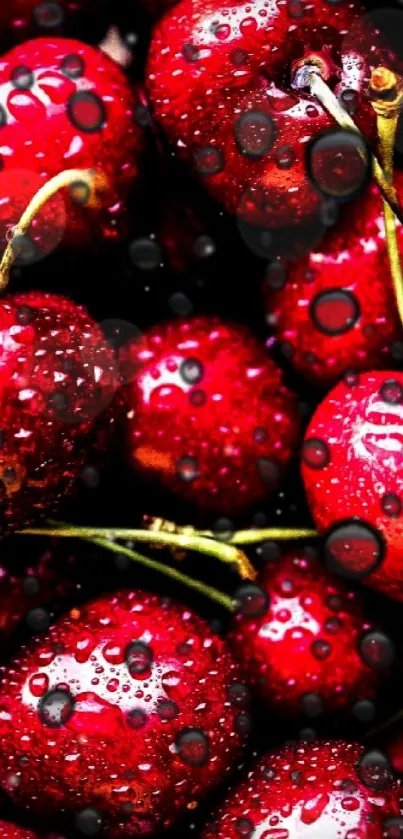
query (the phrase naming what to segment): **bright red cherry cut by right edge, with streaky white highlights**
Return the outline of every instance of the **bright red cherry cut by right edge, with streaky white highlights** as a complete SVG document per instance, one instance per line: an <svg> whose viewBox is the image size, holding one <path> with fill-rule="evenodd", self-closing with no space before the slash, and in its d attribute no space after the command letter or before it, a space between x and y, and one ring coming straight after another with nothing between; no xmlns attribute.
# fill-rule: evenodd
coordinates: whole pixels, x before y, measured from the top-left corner
<svg viewBox="0 0 403 839"><path fill-rule="evenodd" d="M340 382L315 411L302 477L328 559L340 574L403 600L403 374Z"/></svg>

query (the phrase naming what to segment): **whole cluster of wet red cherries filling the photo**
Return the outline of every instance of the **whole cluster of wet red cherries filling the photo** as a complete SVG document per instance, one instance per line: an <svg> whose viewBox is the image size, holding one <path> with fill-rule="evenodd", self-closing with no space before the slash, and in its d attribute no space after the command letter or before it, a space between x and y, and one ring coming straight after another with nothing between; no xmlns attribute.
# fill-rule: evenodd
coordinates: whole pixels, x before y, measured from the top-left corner
<svg viewBox="0 0 403 839"><path fill-rule="evenodd" d="M144 92L104 52L60 37L101 2L2 3L14 46L0 62L1 288L13 263L125 235L146 101L212 197L248 225L316 236L342 209L301 258L277 254L264 282L276 342L325 389L304 436L296 396L247 327L178 318L117 352L70 300L0 300L2 536L54 514L89 447L102 462L116 428L141 479L231 517L277 490L299 452L323 536L326 562L291 534L281 560L240 587L225 639L185 606L118 591L71 609L2 668L4 796L28 821L62 816L119 839L169 827L230 773L251 727L247 685L279 718L371 721L398 666L350 581L403 601L403 336L367 146L371 71L400 66L355 0L180 0L149 6L166 13ZM365 143L315 99L307 67ZM23 575L0 571L4 638L69 588L51 555ZM204 839L399 839L402 770L399 738L385 752L287 744L235 787ZM0 839L36 834L3 821Z"/></svg>

